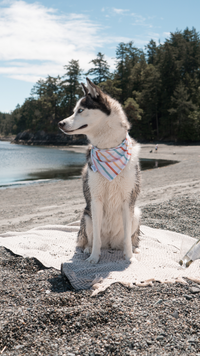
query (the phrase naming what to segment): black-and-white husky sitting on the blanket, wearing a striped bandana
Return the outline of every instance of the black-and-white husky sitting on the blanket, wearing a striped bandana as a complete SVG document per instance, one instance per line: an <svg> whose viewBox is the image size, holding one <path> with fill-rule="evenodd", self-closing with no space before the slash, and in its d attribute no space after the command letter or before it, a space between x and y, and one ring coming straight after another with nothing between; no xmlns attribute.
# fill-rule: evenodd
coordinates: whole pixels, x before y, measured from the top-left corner
<svg viewBox="0 0 200 356"><path fill-rule="evenodd" d="M65 134L85 134L91 142L82 172L86 207L77 244L91 253L87 259L91 263L99 261L101 247L123 249L130 261L139 242L140 209L135 201L140 191L140 147L128 136L130 125L121 105L86 79L84 97L73 115L58 124Z"/></svg>

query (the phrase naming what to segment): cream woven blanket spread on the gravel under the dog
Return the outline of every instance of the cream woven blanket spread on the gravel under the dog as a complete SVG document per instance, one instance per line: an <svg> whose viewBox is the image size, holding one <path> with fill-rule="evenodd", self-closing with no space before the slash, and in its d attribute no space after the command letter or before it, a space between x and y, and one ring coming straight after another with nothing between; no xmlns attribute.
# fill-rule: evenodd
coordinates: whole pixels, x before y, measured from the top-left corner
<svg viewBox="0 0 200 356"><path fill-rule="evenodd" d="M185 278L200 283L200 260L190 267L179 265L180 258L196 239L172 231L141 226L140 253L135 261L123 259L123 252L102 250L98 264L85 261L88 254L76 247L79 222L67 226L47 225L27 232L7 232L0 235L0 245L23 257L35 257L46 267L60 269L71 285L93 289L93 294L112 283L126 286L146 286L153 281L187 283Z"/></svg>

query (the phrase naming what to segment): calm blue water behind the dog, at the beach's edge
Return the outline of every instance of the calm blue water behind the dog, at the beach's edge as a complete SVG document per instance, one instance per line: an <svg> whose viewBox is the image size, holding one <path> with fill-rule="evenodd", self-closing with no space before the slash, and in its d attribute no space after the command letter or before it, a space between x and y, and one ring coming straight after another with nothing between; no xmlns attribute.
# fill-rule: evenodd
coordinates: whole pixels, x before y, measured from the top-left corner
<svg viewBox="0 0 200 356"><path fill-rule="evenodd" d="M0 188L52 179L77 178L81 175L84 163L83 153L0 141ZM142 159L140 163L144 170L176 161Z"/></svg>

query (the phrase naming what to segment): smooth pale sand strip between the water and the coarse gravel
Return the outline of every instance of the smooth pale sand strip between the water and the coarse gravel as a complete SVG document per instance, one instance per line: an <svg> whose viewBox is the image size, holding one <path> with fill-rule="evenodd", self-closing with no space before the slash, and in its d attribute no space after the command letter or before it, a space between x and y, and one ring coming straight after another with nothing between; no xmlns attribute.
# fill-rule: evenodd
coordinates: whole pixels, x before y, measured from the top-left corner
<svg viewBox="0 0 200 356"><path fill-rule="evenodd" d="M67 149L85 151L85 147L77 146ZM141 145L140 157L179 162L142 172L142 192L138 200L141 208L174 197L200 194L200 146L160 144L155 152L154 145ZM80 219L84 208L81 179L0 190L0 201L0 232L67 224Z"/></svg>

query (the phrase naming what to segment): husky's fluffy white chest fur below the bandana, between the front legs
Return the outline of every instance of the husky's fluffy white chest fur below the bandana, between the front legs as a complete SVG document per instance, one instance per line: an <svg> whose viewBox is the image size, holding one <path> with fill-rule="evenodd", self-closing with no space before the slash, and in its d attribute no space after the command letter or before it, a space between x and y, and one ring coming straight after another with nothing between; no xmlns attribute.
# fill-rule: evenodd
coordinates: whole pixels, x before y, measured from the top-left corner
<svg viewBox="0 0 200 356"><path fill-rule="evenodd" d="M100 200L103 204L103 219L101 227L102 247L107 246L109 240L123 235L122 204L128 201L135 204L139 193L139 145L135 144L131 158L122 172L112 181L108 181L99 172L93 172L90 167L88 155L88 189L91 201ZM138 186L138 192L136 187ZM135 197L135 198L134 198ZM90 205L90 204L89 204ZM121 241L121 238L119 239Z"/></svg>

